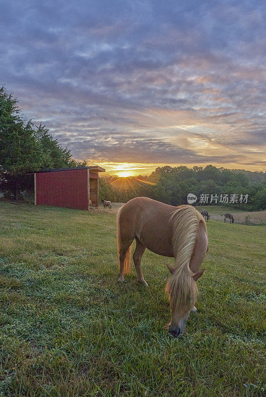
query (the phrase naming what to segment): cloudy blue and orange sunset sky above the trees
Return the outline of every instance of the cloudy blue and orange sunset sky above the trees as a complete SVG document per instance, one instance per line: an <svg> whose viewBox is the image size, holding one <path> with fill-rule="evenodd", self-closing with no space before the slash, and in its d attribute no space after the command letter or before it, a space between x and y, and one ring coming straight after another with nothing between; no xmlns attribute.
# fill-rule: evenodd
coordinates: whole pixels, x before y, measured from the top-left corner
<svg viewBox="0 0 266 397"><path fill-rule="evenodd" d="M73 157L266 170L266 2L2 0L0 84Z"/></svg>

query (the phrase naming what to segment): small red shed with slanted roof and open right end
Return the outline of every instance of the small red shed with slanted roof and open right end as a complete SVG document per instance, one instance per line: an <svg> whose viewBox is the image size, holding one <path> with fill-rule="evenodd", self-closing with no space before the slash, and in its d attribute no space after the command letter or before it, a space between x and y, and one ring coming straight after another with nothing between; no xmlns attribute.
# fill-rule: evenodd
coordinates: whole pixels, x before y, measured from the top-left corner
<svg viewBox="0 0 266 397"><path fill-rule="evenodd" d="M53 205L89 210L99 200L98 173L105 169L95 166L59 168L34 173L35 205Z"/></svg>

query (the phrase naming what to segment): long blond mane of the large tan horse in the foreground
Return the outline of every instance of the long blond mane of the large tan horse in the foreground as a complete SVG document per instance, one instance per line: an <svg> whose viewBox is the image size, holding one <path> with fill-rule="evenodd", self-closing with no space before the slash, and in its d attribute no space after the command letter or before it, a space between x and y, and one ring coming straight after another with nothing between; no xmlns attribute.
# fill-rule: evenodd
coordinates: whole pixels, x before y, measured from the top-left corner
<svg viewBox="0 0 266 397"><path fill-rule="evenodd" d="M172 309L193 305L197 297L197 285L192 278L189 262L194 251L199 222L206 223L202 215L191 205L182 205L171 217L173 222L174 271L166 285Z"/></svg>

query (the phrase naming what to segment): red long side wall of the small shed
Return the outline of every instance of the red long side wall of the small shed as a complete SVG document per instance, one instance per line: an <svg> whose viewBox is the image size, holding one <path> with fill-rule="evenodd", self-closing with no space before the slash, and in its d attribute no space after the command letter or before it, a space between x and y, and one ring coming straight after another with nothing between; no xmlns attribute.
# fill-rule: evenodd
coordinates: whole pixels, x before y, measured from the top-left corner
<svg viewBox="0 0 266 397"><path fill-rule="evenodd" d="M36 204L88 210L87 169L36 173Z"/></svg>

